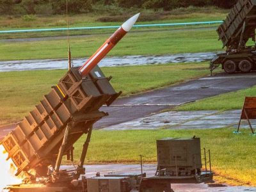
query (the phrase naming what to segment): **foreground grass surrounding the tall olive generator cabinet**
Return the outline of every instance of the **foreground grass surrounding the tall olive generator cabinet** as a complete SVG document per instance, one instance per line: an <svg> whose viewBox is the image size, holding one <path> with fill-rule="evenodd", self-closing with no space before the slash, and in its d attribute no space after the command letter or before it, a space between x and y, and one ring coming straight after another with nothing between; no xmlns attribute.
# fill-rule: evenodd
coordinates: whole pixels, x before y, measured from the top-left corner
<svg viewBox="0 0 256 192"><path fill-rule="evenodd" d="M156 163L156 140L166 137L201 138L201 147L211 149L212 169L220 182L232 185L256 186L255 156L256 145L249 130L243 134L232 134L232 129L168 130L154 131L93 131L86 157L87 164L94 163ZM79 158L85 136L75 144L75 159Z"/></svg>

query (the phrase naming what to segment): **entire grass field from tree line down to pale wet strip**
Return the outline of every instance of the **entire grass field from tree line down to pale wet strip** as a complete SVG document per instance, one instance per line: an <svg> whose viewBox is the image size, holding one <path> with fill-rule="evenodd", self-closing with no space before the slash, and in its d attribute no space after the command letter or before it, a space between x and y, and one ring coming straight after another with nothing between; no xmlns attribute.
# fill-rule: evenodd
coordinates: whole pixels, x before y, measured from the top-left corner
<svg viewBox="0 0 256 192"><path fill-rule="evenodd" d="M142 11L143 14L148 11ZM160 24L177 22L196 22L223 20L227 10L214 7L180 8L161 15L159 20L143 21L137 24ZM133 14L133 13L131 13ZM152 13L156 14L156 13ZM109 15L70 15L70 27L81 26L119 26L124 21L99 22L100 17ZM117 15L115 17L121 17ZM112 16L111 16L112 17ZM122 16L124 17L124 16ZM127 15L129 18L129 15ZM21 17L3 16L0 18L0 30L31 29L31 28L62 28L66 27L63 15L51 17L36 16L34 20L23 20ZM203 26L180 26L165 28L134 28L128 33L108 56L140 55L140 54L175 54L180 52L221 51L221 42L218 41L216 28L218 24ZM201 29L203 28L203 29ZM102 45L115 29L101 29L89 31L70 31L72 56L74 58L88 57ZM36 36L66 36L67 31L58 33L12 33L2 34L0 38L27 38ZM51 39L21 42L4 42L0 44L0 60L30 60L67 58L67 39Z"/></svg>

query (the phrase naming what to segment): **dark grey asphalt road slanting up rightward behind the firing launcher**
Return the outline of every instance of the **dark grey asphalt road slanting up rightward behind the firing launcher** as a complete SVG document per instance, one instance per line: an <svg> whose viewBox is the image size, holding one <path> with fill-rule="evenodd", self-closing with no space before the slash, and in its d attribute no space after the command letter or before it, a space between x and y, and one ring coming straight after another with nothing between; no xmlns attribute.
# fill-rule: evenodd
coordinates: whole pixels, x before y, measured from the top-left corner
<svg viewBox="0 0 256 192"><path fill-rule="evenodd" d="M255 84L256 72L234 75L218 74L218 76L207 76L177 86L132 95L116 100L110 107L102 107L101 110L108 112L109 116L102 118L94 125L94 128L101 129L110 125L129 122L186 102L193 102L221 93L234 92ZM15 126L0 129L0 139L13 127Z"/></svg>

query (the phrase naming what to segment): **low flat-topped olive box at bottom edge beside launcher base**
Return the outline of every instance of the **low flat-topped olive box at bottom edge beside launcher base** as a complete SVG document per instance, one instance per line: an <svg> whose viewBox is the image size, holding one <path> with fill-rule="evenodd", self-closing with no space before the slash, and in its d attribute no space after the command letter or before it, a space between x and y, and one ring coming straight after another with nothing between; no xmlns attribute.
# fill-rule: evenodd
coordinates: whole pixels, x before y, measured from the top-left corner
<svg viewBox="0 0 256 192"><path fill-rule="evenodd" d="M129 177L93 177L87 179L88 192L129 192Z"/></svg>

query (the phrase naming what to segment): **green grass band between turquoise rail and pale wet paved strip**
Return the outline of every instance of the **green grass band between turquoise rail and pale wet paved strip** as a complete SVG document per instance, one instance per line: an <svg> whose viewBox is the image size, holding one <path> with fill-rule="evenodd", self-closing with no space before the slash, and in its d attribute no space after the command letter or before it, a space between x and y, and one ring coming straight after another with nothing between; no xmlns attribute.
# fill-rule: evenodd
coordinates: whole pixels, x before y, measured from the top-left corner
<svg viewBox="0 0 256 192"><path fill-rule="evenodd" d="M72 56L91 56L108 37L109 34L72 38ZM128 33L108 56L207 51L221 51L221 42L214 29L164 30ZM67 58L67 40L1 42L0 52L0 60Z"/></svg>

